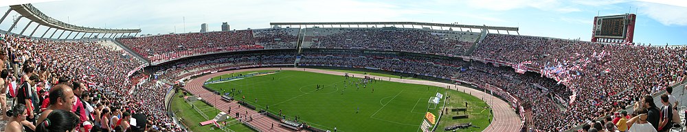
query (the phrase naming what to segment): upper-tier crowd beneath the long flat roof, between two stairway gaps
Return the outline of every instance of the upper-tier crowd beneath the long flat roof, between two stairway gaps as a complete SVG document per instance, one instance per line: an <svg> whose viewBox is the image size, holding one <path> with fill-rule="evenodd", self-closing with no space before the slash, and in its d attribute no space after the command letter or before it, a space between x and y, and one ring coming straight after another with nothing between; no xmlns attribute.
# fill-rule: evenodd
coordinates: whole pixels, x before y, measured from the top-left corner
<svg viewBox="0 0 687 132"><path fill-rule="evenodd" d="M322 32L331 32L324 36ZM419 29L319 29L313 44L308 48L344 48L409 51L418 53L463 55L473 46L473 42L459 40L469 36L464 32L435 32Z"/></svg>

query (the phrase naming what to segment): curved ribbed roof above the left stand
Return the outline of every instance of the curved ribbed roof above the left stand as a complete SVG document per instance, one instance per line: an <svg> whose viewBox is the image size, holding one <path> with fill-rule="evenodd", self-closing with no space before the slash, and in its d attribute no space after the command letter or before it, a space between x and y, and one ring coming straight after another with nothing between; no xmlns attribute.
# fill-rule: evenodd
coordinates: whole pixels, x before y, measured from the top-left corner
<svg viewBox="0 0 687 132"><path fill-rule="evenodd" d="M81 26L77 26L77 25L71 25L69 23L64 23L62 21L58 21L55 18L51 18L51 17L47 16L46 14L43 14L43 12L41 12L40 10L38 10L37 8L35 8L31 4L10 5L10 10L14 10L15 12L21 14L22 17L29 18L32 22L35 22L35 23L38 23L38 24L41 24L41 25L44 25L47 27L52 27L55 29L65 30L65 31L76 31L76 32L85 32L85 33L106 33L106 34L122 34L122 33L139 33L139 32L141 32L141 29L102 29L102 28L81 27ZM6 15L7 14L5 14L5 16ZM4 18L5 17L3 17L3 19ZM15 24L16 24L16 22L15 22Z"/></svg>

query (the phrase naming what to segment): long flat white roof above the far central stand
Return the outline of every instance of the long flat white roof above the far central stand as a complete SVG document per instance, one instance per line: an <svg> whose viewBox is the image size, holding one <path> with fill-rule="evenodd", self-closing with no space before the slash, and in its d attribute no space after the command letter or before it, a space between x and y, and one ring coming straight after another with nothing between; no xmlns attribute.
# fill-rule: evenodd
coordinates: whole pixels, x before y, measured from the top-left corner
<svg viewBox="0 0 687 132"><path fill-rule="evenodd" d="M490 29L504 31L518 31L518 27L495 27L487 25L457 25L443 23L418 23L418 22L326 22L326 23L269 23L269 25L420 25L436 27L458 27L468 29Z"/></svg>

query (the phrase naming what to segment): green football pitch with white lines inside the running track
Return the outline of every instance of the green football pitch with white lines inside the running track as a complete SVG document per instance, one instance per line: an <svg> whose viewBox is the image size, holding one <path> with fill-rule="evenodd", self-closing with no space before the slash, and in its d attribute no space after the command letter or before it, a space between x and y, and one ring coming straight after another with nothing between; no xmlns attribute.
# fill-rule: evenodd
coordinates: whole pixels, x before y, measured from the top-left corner
<svg viewBox="0 0 687 132"><path fill-rule="evenodd" d="M271 70L234 72L208 81L268 71ZM227 93L232 93L233 89L231 95L239 101L258 109L269 107L267 111L275 115L282 111L287 120L294 120L297 116L299 122L325 130L333 131L337 127L338 131L420 131L427 112L438 120L438 110L444 100L436 106L428 102L437 92L445 94L444 88L391 81L370 81L363 86L362 80L346 79L343 75L282 70L205 86ZM482 125L484 129L488 123ZM438 128L437 131L443 130Z"/></svg>

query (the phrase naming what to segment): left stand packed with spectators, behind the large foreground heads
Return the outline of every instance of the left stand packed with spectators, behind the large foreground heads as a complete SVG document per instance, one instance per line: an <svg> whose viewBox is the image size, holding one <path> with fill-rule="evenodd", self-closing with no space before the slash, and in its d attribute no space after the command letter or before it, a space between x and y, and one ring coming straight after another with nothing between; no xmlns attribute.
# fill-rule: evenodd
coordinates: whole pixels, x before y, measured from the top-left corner
<svg viewBox="0 0 687 132"><path fill-rule="evenodd" d="M171 123L166 116L164 101L164 88L145 86L134 88L128 82L128 74L131 75L137 68L145 66L139 60L131 57L124 51L115 51L112 47L105 47L102 41L61 41L61 40L32 40L19 37L14 34L0 36L0 46L8 58L3 69L10 71L8 82L22 84L31 75L38 75L36 82L36 96L32 102L32 109L37 112L47 107L47 92L58 83L65 83L74 88L76 84L86 86L86 92L75 94L80 98L82 107L74 107L73 110L83 117L81 122L97 124L92 126L100 128L101 121L106 120L102 114L104 109L113 111L110 115L122 116L123 113L146 114L150 121L149 126L164 131L181 131L179 127ZM34 72L20 72L26 69L35 69ZM75 82L75 83L71 83ZM78 82L78 83L76 83ZM75 84L75 85L72 85ZM16 91L14 85L10 91ZM139 94L132 94L137 92ZM143 96L142 94L145 94ZM154 96L155 98L150 98ZM44 102L41 105L40 102ZM87 109L85 109L87 108ZM91 118L85 118L91 117ZM102 119L102 120L101 120ZM95 123L97 122L97 123ZM108 121L104 121L108 122ZM116 122L116 120L109 120ZM88 128L88 127L85 127ZM111 129L111 127L106 127Z"/></svg>

